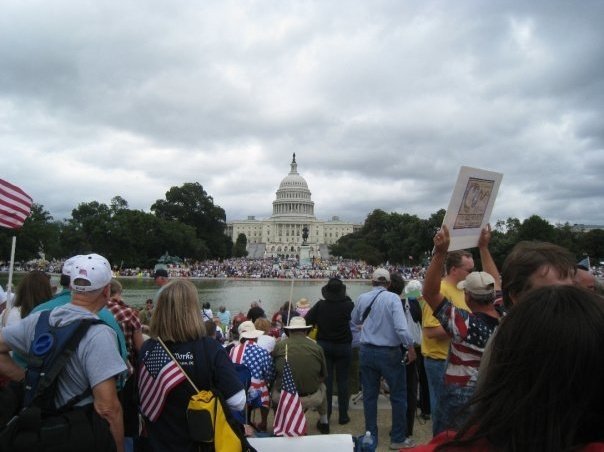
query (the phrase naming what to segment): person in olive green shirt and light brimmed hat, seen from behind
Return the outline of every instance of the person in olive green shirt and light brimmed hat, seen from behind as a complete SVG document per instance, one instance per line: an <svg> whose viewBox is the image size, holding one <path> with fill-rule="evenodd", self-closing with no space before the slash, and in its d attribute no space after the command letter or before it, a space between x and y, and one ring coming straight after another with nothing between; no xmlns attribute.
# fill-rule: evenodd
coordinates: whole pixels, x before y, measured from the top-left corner
<svg viewBox="0 0 604 452"><path fill-rule="evenodd" d="M283 367L289 363L296 384L296 390L304 410L316 409L319 413L317 428L323 434L329 433L327 418L327 364L323 349L306 335L312 325L306 325L303 317L292 317L289 326L284 329L287 338L279 341L273 350L277 376L273 386L273 404L279 404Z"/></svg>

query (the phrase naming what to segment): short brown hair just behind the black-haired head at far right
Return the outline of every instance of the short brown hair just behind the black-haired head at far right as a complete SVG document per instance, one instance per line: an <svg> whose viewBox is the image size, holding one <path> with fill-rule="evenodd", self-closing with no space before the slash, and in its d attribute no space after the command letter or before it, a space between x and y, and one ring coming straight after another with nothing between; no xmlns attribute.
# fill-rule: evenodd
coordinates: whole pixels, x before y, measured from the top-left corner
<svg viewBox="0 0 604 452"><path fill-rule="evenodd" d="M508 307L511 296L530 289L531 276L543 266L550 266L566 278L575 271L575 257L566 248L548 242L522 241L514 246L501 267L501 292Z"/></svg>

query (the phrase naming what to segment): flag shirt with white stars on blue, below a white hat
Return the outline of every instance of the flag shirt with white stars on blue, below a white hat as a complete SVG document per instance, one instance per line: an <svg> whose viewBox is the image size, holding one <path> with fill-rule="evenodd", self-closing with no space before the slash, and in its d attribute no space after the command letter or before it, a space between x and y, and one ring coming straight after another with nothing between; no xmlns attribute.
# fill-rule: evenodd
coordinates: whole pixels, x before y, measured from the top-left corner
<svg viewBox="0 0 604 452"><path fill-rule="evenodd" d="M268 392L268 383L275 378L275 366L271 355L252 340L247 340L243 344L236 345L229 354L231 361L235 364L245 365L252 374L252 381L248 394L252 401L253 394L260 393L261 406L270 407L270 394Z"/></svg>

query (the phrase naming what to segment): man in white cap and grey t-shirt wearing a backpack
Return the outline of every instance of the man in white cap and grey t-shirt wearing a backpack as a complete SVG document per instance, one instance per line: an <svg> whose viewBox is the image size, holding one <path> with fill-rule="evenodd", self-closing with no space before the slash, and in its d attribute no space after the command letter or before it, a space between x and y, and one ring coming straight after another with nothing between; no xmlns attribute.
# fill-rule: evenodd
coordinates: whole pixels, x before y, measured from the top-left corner
<svg viewBox="0 0 604 452"><path fill-rule="evenodd" d="M98 254L79 256L71 271L71 302L52 310L48 322L69 324L79 319L97 319L110 294L111 267ZM11 350L22 354L30 350L40 313L31 313L21 322L0 333L0 374L19 381L25 371L9 355ZM83 397L76 407L92 404L96 415L105 419L118 451L123 451L124 425L122 407L117 396L116 380L126 371L126 364L116 347L115 332L103 323L93 324L80 340L59 374L55 407L60 409L71 399L90 388L92 395Z"/></svg>

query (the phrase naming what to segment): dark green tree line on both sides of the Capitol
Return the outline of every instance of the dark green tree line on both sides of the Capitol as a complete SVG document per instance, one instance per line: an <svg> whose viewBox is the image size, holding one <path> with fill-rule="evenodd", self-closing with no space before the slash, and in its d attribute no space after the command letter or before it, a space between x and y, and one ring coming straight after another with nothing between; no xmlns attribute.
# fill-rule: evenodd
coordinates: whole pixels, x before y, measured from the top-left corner
<svg viewBox="0 0 604 452"><path fill-rule="evenodd" d="M445 210L422 219L407 213L376 209L363 227L330 247L333 256L364 260L370 264L389 262L422 265L429 258L432 237L440 227ZM43 254L46 259L98 252L118 267L151 268L168 252L194 260L245 256L246 237L233 244L225 235L226 214L197 182L172 187L165 199L151 205L150 212L130 209L115 196L109 205L97 201L79 204L71 216L55 221L41 204L19 230L0 229L0 256L10 257L10 237L17 236L16 259L28 261ZM568 223L552 225L533 215L493 225L491 253L498 265L520 240L544 240L560 244L578 259L587 255L604 257L604 230L580 232Z"/></svg>

